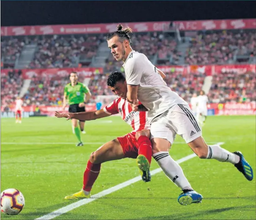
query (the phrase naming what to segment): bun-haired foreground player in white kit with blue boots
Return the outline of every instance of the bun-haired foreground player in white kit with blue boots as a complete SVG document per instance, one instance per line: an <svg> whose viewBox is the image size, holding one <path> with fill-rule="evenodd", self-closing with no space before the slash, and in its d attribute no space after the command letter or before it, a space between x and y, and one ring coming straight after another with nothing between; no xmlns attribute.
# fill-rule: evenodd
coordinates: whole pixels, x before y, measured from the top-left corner
<svg viewBox="0 0 256 220"><path fill-rule="evenodd" d="M183 193L178 197L181 205L199 203L203 197L195 192L180 167L169 155L169 149L178 134L202 159L216 159L234 164L251 181L252 167L241 152L231 153L219 145L207 145L201 128L188 105L176 92L171 91L159 75L159 70L148 58L131 48L130 28L118 25L117 31L108 34L107 42L117 61L123 61L127 81L127 100L133 110L148 110L151 124L152 156L167 177ZM137 105L139 100L142 105Z"/></svg>

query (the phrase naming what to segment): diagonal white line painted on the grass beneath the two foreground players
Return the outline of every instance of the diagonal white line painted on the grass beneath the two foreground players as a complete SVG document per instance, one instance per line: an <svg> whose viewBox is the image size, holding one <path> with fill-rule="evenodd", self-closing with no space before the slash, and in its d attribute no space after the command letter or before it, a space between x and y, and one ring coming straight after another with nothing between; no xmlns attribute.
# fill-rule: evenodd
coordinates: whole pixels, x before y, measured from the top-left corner
<svg viewBox="0 0 256 220"><path fill-rule="evenodd" d="M216 143L216 144L217 144L217 145L223 145L224 142L219 142L219 143ZM177 160L176 162L177 162L178 164L180 164L180 163L182 163L182 162L185 162L185 161L187 161L187 160L190 160L191 158L194 158L195 156L197 156L197 155L196 155L196 154L190 154L190 155L188 155L188 156L185 156L185 157L183 157L183 158ZM159 173L159 172L161 172L161 171L162 171L161 168L157 168L157 169L154 169L153 171L150 171L150 173L151 173L151 175L155 175L156 173ZM112 192L116 192L117 190L120 190L120 189L122 189L122 188L124 188L124 187L126 187L126 186L129 186L129 185L131 185L131 184L133 184L133 183L135 183L135 182L138 182L138 181L140 181L140 180L141 180L141 177L140 177L140 176L135 177L135 178L130 179L130 180L128 180L128 181L122 182L122 183L120 183L120 184L118 184L118 185L116 185L116 186L113 186L113 187L111 187L111 188L109 188L109 189L107 189L107 190L103 190L103 191L101 191L101 192L99 192L99 193L93 195L93 196L92 196L91 198L89 198L89 199L81 199L81 200L79 200L79 201L77 201L77 202L75 202L75 203L72 203L72 204L70 204L70 205L67 205L67 206L65 206L65 207L63 207L63 208L61 208L61 209L58 209L58 210L56 210L56 211L53 211L53 212L51 212L51 213L49 213L49 214L46 214L46 215L44 215L44 216L42 216L42 217L40 217L40 218L36 218L35 220L50 220L50 219L53 219L53 218L55 218L55 217L57 217L57 216L60 216L61 214L64 214L64 213L69 212L69 211L71 211L71 210L73 210L73 209L76 209L76 208L78 208L78 207L80 207L80 206L82 206L82 205L85 205L85 204L87 204L87 203L90 203L90 202L92 202L92 201L94 201L94 200L96 200L96 199L99 199L99 198L101 198L101 197L103 197L103 196L106 196L106 195L108 195L108 194L110 194L110 193L112 193Z"/></svg>

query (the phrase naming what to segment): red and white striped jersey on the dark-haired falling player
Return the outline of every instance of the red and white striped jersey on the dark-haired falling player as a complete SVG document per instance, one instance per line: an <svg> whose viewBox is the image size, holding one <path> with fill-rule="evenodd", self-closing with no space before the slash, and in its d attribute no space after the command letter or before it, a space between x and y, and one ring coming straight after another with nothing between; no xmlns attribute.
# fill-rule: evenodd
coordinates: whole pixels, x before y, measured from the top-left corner
<svg viewBox="0 0 256 220"><path fill-rule="evenodd" d="M148 113L146 111L133 111L129 102L116 98L103 109L109 115L120 113L121 118L133 128L133 132L150 129Z"/></svg>

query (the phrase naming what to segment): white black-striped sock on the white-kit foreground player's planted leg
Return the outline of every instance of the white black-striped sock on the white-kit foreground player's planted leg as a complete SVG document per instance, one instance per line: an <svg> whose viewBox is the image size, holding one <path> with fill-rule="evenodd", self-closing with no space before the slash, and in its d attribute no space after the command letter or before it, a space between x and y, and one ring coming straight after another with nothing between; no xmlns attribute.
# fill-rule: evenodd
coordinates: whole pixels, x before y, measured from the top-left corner
<svg viewBox="0 0 256 220"><path fill-rule="evenodd" d="M168 151L160 151L152 155L165 175L182 190L193 190L180 165L171 158Z"/></svg>

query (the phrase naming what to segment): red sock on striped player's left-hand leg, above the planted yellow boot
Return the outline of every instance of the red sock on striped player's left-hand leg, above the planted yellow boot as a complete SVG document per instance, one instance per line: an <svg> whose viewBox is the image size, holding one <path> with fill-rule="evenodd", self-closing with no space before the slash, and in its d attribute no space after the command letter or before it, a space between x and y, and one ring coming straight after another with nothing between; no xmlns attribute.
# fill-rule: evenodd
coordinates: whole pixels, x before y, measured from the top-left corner
<svg viewBox="0 0 256 220"><path fill-rule="evenodd" d="M94 182L99 176L101 164L93 164L88 160L87 167L83 173L83 190L90 192Z"/></svg>

